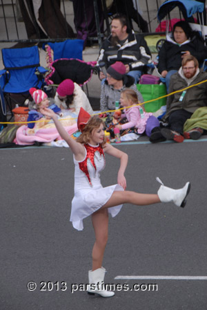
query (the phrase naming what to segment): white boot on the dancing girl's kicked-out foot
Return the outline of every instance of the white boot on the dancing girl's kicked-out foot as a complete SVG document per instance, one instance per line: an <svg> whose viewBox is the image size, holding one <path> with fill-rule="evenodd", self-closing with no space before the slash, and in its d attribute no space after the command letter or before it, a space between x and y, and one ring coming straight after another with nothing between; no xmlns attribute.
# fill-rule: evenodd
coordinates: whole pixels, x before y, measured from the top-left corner
<svg viewBox="0 0 207 310"><path fill-rule="evenodd" d="M157 192L161 202L174 202L176 206L184 208L186 206L186 197L190 192L190 182L187 182L184 188L179 190L173 190L172 188L167 188L164 183L159 178L156 180L161 183L161 186Z"/></svg>

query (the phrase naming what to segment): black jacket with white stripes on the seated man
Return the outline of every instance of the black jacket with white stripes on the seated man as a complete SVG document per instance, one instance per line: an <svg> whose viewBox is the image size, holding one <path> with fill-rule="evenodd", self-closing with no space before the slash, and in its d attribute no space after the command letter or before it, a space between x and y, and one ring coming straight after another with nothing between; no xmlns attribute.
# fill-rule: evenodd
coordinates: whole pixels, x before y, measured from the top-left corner
<svg viewBox="0 0 207 310"><path fill-rule="evenodd" d="M141 70L151 60L151 53L144 37L135 35L133 30L122 46L120 44L112 46L110 40L111 35L103 42L98 58L98 62L105 62L106 69L115 62L123 62L130 66L130 71Z"/></svg>

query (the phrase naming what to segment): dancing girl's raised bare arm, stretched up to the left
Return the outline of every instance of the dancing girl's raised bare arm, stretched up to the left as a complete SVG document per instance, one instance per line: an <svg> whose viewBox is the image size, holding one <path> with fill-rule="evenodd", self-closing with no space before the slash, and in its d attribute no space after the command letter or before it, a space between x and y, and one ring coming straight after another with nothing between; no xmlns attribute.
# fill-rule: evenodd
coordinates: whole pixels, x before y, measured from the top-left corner
<svg viewBox="0 0 207 310"><path fill-rule="evenodd" d="M70 137L66 129L64 129L63 125L61 125L61 122L58 120L57 114L55 114L54 111L47 108L40 109L40 111L44 116L52 118L61 138L68 143L72 153L75 155L75 158L78 161L81 160L85 156L85 149L83 145L81 145L81 143L77 143L76 140Z"/></svg>

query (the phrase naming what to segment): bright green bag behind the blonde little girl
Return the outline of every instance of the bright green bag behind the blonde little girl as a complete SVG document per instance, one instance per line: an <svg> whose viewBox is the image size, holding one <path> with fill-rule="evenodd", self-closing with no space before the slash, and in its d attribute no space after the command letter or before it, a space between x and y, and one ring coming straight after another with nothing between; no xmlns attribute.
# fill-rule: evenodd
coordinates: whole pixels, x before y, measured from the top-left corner
<svg viewBox="0 0 207 310"><path fill-rule="evenodd" d="M165 84L137 84L137 89L140 91L144 101L156 99L167 94ZM163 105L166 105L166 98L148 102L144 104L144 108L146 112L155 112Z"/></svg>

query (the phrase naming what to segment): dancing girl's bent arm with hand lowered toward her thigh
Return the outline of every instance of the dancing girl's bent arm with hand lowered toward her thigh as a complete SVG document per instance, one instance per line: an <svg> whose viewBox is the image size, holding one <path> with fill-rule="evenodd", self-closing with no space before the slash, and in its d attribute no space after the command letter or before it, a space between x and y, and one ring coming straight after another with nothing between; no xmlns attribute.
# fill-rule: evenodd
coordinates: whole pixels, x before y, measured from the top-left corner
<svg viewBox="0 0 207 310"><path fill-rule="evenodd" d="M117 176L117 182L125 190L126 189L126 179L124 176L124 172L126 170L126 166L128 163L128 155L126 153L120 151L119 149L112 147L112 145L110 145L108 143L106 143L106 147L104 147L104 152L106 154L115 156L115 157L120 159L120 167L119 167L119 172L118 172L118 176Z"/></svg>

